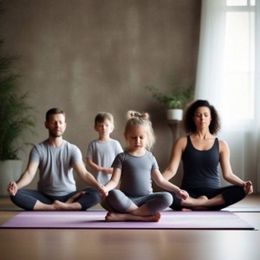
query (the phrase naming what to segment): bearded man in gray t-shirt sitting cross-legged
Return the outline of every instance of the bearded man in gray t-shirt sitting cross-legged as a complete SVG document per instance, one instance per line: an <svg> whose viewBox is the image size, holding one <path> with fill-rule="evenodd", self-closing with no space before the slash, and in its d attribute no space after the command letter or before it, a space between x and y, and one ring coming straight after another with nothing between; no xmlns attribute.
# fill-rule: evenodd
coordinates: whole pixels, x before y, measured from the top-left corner
<svg viewBox="0 0 260 260"><path fill-rule="evenodd" d="M26 210L86 210L100 202L103 186L86 170L79 148L62 138L65 113L58 108L47 111L45 127L48 139L33 147L25 172L17 183L8 185L13 203ZM38 189L21 189L33 180L38 168ZM93 188L76 191L73 169Z"/></svg>

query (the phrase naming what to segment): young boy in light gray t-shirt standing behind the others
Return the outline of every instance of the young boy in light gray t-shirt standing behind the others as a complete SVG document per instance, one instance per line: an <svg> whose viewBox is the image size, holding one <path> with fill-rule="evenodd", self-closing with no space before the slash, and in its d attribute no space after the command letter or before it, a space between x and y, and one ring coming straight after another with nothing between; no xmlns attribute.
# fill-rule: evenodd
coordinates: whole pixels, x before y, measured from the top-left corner
<svg viewBox="0 0 260 260"><path fill-rule="evenodd" d="M117 140L109 136L114 130L114 118L110 113L97 114L94 129L99 137L89 143L86 162L92 168L91 173L97 181L105 185L113 172L111 164L116 155L123 152L123 149Z"/></svg>

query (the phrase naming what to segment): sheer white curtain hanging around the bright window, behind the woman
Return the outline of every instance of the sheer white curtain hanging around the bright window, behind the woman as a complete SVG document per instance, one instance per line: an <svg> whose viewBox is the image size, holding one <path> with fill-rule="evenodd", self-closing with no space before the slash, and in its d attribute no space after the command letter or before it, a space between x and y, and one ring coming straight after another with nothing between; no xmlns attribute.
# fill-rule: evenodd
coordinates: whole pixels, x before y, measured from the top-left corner
<svg viewBox="0 0 260 260"><path fill-rule="evenodd" d="M195 99L206 99L219 111L221 132L218 137L230 147L233 172L243 180L253 182L254 191L260 192L260 0L255 7L255 86L253 116L234 120L227 104L232 91L224 83L226 0L202 0L201 31ZM234 46L235 47L235 46ZM234 86L233 86L234 87ZM237 104L237 110L243 105ZM222 179L222 184L227 184Z"/></svg>

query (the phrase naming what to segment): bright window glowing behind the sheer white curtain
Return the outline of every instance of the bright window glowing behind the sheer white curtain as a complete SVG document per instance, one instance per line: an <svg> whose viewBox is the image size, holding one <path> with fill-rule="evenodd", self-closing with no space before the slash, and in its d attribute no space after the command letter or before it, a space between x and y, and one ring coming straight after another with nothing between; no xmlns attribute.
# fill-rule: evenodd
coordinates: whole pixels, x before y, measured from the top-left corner
<svg viewBox="0 0 260 260"><path fill-rule="evenodd" d="M228 118L254 119L255 0L227 0L224 50L224 98ZM229 123L229 124L230 124ZM245 122L244 122L245 123Z"/></svg>

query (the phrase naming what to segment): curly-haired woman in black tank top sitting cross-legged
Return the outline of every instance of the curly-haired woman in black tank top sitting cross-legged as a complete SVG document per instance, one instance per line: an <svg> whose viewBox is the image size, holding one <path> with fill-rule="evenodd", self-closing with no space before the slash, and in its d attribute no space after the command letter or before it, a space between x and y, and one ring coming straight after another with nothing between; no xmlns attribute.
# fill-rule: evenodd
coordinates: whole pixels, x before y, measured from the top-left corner
<svg viewBox="0 0 260 260"><path fill-rule="evenodd" d="M252 193L251 181L242 181L233 174L227 143L215 136L220 129L215 108L207 100L197 100L187 108L183 123L188 136L176 141L163 176L171 179L182 160L181 189L189 193L189 198L183 200L171 192L170 207L174 210L220 210ZM219 163L223 178L233 185L221 187Z"/></svg>

